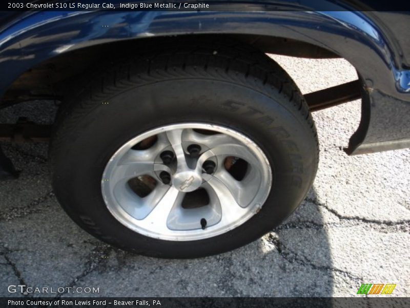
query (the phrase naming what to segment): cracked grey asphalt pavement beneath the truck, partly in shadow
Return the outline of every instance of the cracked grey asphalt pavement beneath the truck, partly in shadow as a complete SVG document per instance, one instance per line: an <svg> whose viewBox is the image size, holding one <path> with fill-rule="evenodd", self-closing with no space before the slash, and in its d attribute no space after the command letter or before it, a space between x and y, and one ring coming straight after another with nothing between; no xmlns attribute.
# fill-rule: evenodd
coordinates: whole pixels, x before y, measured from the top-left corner
<svg viewBox="0 0 410 308"><path fill-rule="evenodd" d="M344 60L274 58L303 93L357 77ZM55 110L52 102L28 102L0 110L0 122L25 115L48 123ZM0 183L0 296L21 296L7 286L25 284L99 287L26 296L350 297L361 283L395 283L391 296L410 296L410 150L345 155L360 100L315 112L314 120L319 170L298 210L247 246L194 260L142 257L94 239L58 205L47 145L3 143L22 172Z"/></svg>

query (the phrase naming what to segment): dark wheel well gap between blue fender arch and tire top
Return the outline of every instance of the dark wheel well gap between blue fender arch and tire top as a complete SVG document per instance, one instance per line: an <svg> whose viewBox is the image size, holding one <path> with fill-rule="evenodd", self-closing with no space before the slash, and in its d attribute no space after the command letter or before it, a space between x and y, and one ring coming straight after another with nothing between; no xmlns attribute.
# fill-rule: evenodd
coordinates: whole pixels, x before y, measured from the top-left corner
<svg viewBox="0 0 410 308"><path fill-rule="evenodd" d="M2 99L2 107L35 100L60 100L67 90L67 82L84 72L88 67L115 62L121 57L146 51L148 45L158 48L163 43L178 40L179 44L192 40L223 40L251 45L265 53L275 53L306 58L334 58L335 53L321 47L283 37L238 35L238 34L201 34L178 37L149 37L138 40L117 41L81 48L61 55L28 69L9 87Z"/></svg>

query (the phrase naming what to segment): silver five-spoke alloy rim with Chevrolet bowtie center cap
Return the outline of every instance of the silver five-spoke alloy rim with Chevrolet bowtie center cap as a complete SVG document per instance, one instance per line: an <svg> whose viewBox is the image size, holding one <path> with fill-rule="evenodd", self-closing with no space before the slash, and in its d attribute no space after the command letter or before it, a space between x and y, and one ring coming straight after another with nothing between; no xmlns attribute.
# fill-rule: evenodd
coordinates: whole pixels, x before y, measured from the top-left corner
<svg viewBox="0 0 410 308"><path fill-rule="evenodd" d="M218 125L172 124L140 134L109 160L101 190L111 214L152 238L191 241L241 225L272 186L261 148Z"/></svg>

